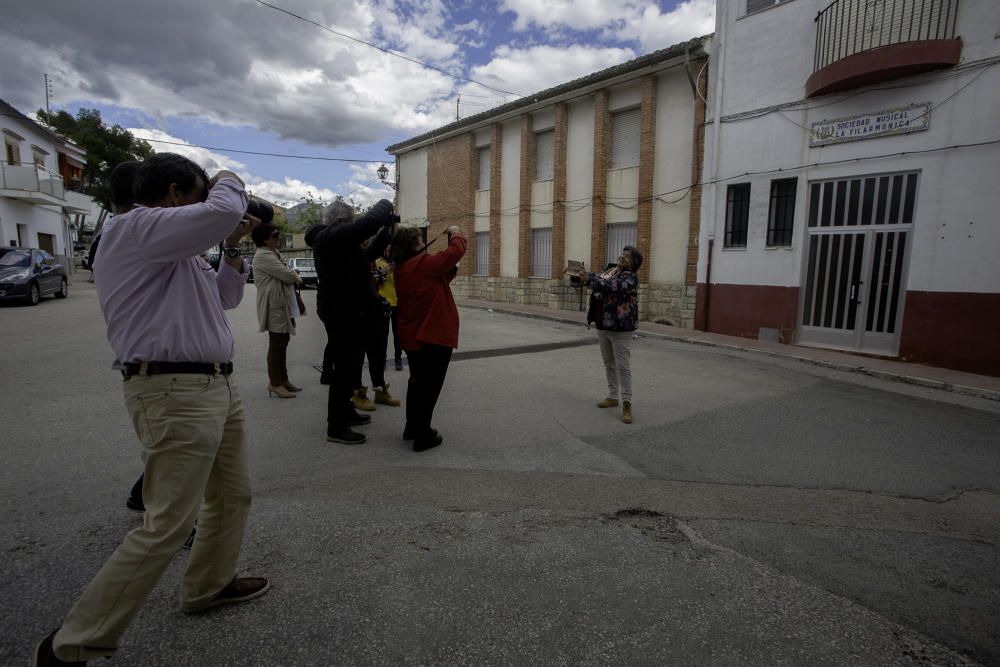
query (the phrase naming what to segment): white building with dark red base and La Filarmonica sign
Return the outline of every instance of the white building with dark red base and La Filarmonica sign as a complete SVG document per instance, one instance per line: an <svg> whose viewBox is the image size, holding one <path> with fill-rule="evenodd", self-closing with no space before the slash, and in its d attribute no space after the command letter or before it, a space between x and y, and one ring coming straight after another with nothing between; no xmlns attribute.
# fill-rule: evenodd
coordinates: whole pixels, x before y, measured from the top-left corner
<svg viewBox="0 0 1000 667"><path fill-rule="evenodd" d="M1000 3L719 0L699 329L1000 375Z"/></svg>

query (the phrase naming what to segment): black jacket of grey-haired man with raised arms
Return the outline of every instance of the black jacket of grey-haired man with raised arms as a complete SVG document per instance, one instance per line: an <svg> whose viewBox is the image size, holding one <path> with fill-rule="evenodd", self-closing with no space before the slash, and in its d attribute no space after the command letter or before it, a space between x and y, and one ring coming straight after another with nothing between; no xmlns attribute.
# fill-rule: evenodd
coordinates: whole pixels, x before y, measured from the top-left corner
<svg viewBox="0 0 1000 667"><path fill-rule="evenodd" d="M316 311L321 317L350 317L377 308L371 263L389 245L396 219L392 202L383 199L354 222L309 228L306 243L316 259ZM373 236L372 242L362 248L361 244Z"/></svg>

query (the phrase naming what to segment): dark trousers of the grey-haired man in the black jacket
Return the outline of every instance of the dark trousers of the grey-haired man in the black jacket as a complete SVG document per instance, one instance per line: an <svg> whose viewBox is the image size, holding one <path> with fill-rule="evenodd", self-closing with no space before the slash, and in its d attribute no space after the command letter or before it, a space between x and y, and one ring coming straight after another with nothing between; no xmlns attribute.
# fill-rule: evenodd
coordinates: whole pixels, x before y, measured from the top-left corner
<svg viewBox="0 0 1000 667"><path fill-rule="evenodd" d="M330 392L326 401L327 431L343 431L350 426L349 419L354 414L351 395L354 379L361 375L364 363L364 336L362 328L354 318L340 319L332 315L320 314L326 327L326 353L324 366L329 355ZM325 368L324 368L325 370Z"/></svg>

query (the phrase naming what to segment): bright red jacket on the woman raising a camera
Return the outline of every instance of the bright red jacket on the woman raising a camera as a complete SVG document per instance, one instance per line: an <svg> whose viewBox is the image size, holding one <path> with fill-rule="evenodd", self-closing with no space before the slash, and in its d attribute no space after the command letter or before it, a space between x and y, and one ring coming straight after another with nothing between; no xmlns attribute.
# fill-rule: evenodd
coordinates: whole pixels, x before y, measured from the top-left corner
<svg viewBox="0 0 1000 667"><path fill-rule="evenodd" d="M396 330L404 350L425 343L458 347L458 308L449 283L467 245L455 234L446 250L422 252L396 266Z"/></svg>

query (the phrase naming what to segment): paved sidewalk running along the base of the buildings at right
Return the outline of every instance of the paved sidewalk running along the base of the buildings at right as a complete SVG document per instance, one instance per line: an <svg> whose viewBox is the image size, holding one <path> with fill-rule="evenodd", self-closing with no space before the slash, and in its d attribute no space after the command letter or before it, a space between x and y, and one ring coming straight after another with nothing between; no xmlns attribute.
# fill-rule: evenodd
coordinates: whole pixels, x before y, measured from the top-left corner
<svg viewBox="0 0 1000 667"><path fill-rule="evenodd" d="M481 301L477 299L456 298L455 302L465 308L479 308L492 310L497 313L537 317L556 322L586 323L586 313L571 310L554 310L544 306ZM804 345L785 345L773 341L725 336L723 334L682 329L680 327L654 324L652 322L640 322L639 333L645 336L677 340L694 345L709 345L728 350L739 350L741 352L757 352L773 357L794 359L817 366L861 373L885 380L1000 401L1000 378L988 375L976 375L975 373L964 373L947 368L935 368L934 366L880 359L878 357L806 347Z"/></svg>

